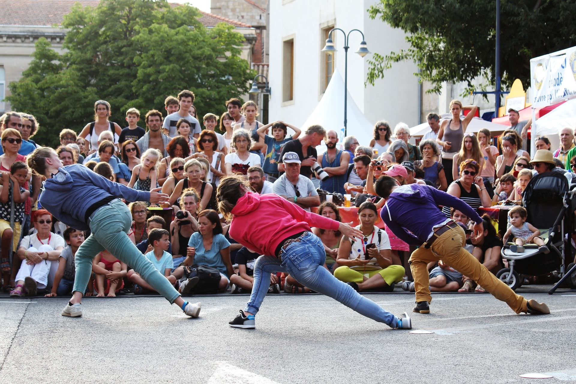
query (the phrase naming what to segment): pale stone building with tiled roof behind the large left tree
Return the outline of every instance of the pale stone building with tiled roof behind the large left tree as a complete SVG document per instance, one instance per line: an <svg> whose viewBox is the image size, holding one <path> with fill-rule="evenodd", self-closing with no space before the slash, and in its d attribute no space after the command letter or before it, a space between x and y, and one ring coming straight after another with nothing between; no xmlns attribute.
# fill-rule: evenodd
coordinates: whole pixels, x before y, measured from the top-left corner
<svg viewBox="0 0 576 384"><path fill-rule="evenodd" d="M4 101L5 96L10 94L8 85L20 79L22 71L28 68L32 60L34 44L40 37L46 37L51 42L52 48L60 54L63 52L62 43L66 36L66 29L59 25L62 23L63 16L70 12L75 2L80 2L84 6L96 6L99 1L0 0L0 9L5 15L0 22L0 112L10 110L9 103ZM254 47L259 39L257 33L262 35L262 29L253 28L248 22L232 20L218 14L202 11L200 13L202 17L199 21L207 28L219 22L226 22L234 26L234 31L244 35L241 57L253 63ZM256 51L262 50L258 48ZM257 63L262 62L262 53L257 54L256 60Z"/></svg>

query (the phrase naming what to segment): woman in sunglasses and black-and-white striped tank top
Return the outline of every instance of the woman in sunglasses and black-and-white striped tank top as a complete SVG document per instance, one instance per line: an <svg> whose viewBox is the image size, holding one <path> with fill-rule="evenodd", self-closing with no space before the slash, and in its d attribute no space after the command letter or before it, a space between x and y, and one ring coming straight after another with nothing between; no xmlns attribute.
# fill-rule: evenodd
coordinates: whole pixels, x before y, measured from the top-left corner
<svg viewBox="0 0 576 384"><path fill-rule="evenodd" d="M469 206L478 210L479 207L490 207L492 200L484 187L484 181L480 176L480 165L472 159L465 159L460 163L460 178L450 184L449 195L458 197ZM450 207L442 208L446 217L450 217Z"/></svg>

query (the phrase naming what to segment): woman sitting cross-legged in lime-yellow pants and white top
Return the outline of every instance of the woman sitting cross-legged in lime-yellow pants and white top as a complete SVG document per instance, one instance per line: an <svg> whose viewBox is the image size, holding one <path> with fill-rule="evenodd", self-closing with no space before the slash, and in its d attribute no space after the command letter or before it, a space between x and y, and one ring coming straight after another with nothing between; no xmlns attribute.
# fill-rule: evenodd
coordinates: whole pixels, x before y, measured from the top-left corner
<svg viewBox="0 0 576 384"><path fill-rule="evenodd" d="M334 270L336 279L350 284L357 291L392 291L394 284L404 277L404 267L394 265L388 234L374 226L378 218L374 203L365 201L358 208L362 239L344 236L338 248Z"/></svg>

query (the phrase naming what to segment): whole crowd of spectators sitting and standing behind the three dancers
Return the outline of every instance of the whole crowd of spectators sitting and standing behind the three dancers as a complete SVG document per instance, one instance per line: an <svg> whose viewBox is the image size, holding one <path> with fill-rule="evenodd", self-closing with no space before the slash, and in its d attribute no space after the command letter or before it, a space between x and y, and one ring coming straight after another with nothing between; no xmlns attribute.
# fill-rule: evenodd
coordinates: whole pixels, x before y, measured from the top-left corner
<svg viewBox="0 0 576 384"><path fill-rule="evenodd" d="M325 268L358 291L391 291L403 281L407 282L402 284L404 289L414 289L407 268L413 249L390 229L376 226L385 203L374 192L380 176L391 176L401 185L427 184L479 210L521 200L535 174L556 172L572 182L576 169L572 128L559 132L559 149L551 148L545 136L536 138L537 151L530 157L525 139L531 122L518 121L514 110L509 111L510 129L498 138L485 129L477 134L467 132L478 108L454 100L451 119L441 121L430 113L430 131L419 145L411 140L407 124L397 123L392 130L388 122L378 121L369 143L347 136L340 146L338 132L321 126L301 131L285 121L263 124L257 120L258 107L253 101L242 103L232 98L223 106L225 112L214 111L218 113L200 118L194 100L190 90L167 97L165 112L153 109L145 113L145 128L138 125L141 113L135 108L126 112L126 127L109 121L111 105L98 100L94 121L79 134L63 129L56 149L65 166L83 164L128 187L143 191L161 188L170 196L164 207L130 203L133 222L127 235L184 294L251 290L253 265L259 255L230 238L228 223L217 210L216 189L229 174L245 175L255 192L276 193L306 211L339 221L343 195L349 194L357 207L357 228L365 238L355 241L338 231L313 228L324 245ZM465 117L464 110L469 111ZM32 139L40 129L35 117L8 112L0 117L0 124L3 290L12 296L38 292L68 295L74 281L74 254L88 234L67 228L37 204L42 180L25 163L26 155L39 147ZM326 150L318 155L316 147L321 143ZM156 210L170 214L162 217ZM503 242L491 219L484 216L484 233L470 238L465 215L448 207L444 213L465 228L470 252L491 272L497 272L502 265ZM511 217L513 227L524 226L524 213ZM530 230L532 234L523 241L515 240L518 246L530 241L541 245L536 229ZM199 266L215 272L206 279L193 277ZM442 263L431 263L429 270L432 291L483 291ZM270 284L270 292L309 291L283 273L272 276ZM150 291L130 265L107 250L95 255L86 295Z"/></svg>

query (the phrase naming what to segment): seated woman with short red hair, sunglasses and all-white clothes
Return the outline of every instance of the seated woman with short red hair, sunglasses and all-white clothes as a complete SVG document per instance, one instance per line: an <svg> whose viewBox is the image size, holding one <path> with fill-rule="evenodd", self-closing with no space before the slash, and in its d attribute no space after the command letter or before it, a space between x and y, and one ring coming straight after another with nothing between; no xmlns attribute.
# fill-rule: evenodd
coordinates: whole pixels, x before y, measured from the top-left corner
<svg viewBox="0 0 576 384"><path fill-rule="evenodd" d="M16 288L10 296L36 296L37 290L51 286L48 275L52 262L58 264L60 253L66 246L64 239L50 231L52 215L47 210L37 210L34 227L36 233L24 236L17 256L22 260L16 275Z"/></svg>

